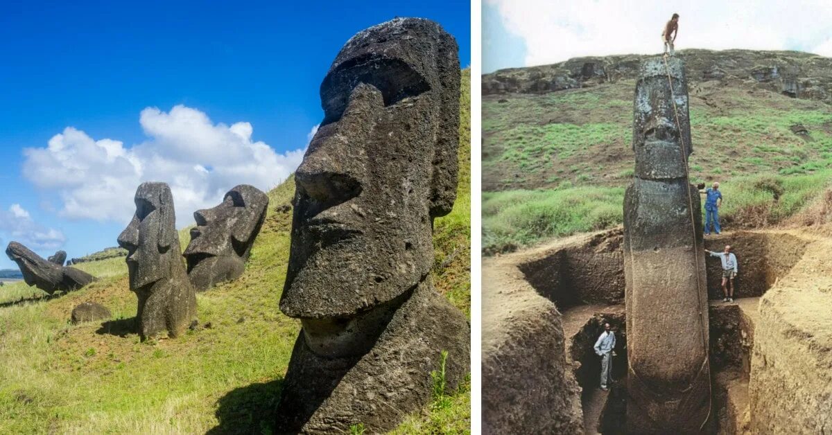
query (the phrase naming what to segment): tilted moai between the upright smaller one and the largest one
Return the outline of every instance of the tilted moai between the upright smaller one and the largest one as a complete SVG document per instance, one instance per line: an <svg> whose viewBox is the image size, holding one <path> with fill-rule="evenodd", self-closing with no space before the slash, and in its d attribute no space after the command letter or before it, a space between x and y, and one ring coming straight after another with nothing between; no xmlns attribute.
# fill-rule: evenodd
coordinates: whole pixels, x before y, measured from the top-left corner
<svg viewBox="0 0 832 435"><path fill-rule="evenodd" d="M251 185L238 185L220 205L194 212L196 228L185 250L188 278L197 291L237 279L265 220L269 197Z"/></svg>

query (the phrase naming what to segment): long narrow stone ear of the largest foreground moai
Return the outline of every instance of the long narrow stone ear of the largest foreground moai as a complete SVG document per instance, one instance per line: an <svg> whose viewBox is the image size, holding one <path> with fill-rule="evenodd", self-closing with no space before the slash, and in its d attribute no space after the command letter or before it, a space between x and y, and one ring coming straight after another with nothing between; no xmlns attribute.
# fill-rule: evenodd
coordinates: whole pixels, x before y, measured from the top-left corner
<svg viewBox="0 0 832 435"><path fill-rule="evenodd" d="M440 105L438 135L433 148L433 175L431 180L431 217L447 215L457 199L458 148L459 148L459 57L457 42L443 32L439 44Z"/></svg>

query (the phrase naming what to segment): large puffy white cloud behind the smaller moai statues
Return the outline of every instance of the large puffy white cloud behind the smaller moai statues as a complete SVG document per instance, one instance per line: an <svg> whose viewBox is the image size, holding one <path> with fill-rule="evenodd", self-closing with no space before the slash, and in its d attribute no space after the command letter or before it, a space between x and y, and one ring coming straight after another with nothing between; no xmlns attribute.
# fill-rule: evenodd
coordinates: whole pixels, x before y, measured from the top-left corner
<svg viewBox="0 0 832 435"><path fill-rule="evenodd" d="M136 210L133 196L144 181L171 186L177 225L193 212L216 205L227 190L250 184L269 190L295 171L303 149L278 154L252 141L248 122L214 124L199 110L148 107L139 118L148 139L126 147L121 141L94 140L67 127L46 148L27 148L23 174L44 190L57 191L60 215L126 222Z"/></svg>

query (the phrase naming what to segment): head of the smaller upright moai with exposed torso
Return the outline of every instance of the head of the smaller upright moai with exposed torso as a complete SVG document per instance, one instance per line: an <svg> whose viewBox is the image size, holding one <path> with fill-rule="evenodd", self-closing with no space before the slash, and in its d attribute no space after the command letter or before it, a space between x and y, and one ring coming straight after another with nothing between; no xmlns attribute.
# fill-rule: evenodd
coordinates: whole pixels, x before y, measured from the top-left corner
<svg viewBox="0 0 832 435"><path fill-rule="evenodd" d="M118 245L128 253L131 290L166 277L180 249L171 188L165 183L142 183L135 201L136 214L118 236Z"/></svg>

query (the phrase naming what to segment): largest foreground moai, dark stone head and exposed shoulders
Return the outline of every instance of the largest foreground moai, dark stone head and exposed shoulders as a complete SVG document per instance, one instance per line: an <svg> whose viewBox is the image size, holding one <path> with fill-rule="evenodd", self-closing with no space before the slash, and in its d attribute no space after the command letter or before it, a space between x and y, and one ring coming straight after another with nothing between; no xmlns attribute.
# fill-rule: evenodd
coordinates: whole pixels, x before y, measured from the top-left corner
<svg viewBox="0 0 832 435"><path fill-rule="evenodd" d="M295 173L280 309L302 329L279 433L394 428L431 399L448 351L453 391L470 325L433 288L433 219L457 187L459 60L438 24L397 18L341 49L321 85L324 121Z"/></svg>

